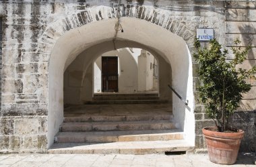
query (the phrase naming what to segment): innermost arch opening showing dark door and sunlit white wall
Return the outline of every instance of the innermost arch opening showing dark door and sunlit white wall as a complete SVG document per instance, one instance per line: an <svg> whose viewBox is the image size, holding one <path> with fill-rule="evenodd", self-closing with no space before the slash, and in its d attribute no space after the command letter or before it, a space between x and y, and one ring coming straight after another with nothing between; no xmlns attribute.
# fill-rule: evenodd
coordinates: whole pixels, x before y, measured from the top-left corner
<svg viewBox="0 0 256 167"><path fill-rule="evenodd" d="M93 72L93 93L158 93L158 61L147 50L105 52L94 61Z"/></svg>

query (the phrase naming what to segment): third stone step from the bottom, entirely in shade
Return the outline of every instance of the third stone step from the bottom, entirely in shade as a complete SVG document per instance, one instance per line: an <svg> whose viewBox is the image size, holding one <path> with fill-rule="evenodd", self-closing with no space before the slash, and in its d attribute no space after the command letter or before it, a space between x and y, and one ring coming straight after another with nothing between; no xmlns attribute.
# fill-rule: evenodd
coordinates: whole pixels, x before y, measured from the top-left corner
<svg viewBox="0 0 256 167"><path fill-rule="evenodd" d="M98 121L98 122L65 122L60 131L129 131L129 130L153 130L174 129L171 121Z"/></svg>

